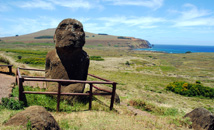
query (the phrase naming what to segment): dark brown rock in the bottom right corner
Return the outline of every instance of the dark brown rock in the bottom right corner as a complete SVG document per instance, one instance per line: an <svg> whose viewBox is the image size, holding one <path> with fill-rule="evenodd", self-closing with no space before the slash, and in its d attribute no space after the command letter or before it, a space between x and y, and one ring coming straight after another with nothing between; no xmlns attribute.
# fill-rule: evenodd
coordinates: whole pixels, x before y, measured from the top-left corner
<svg viewBox="0 0 214 130"><path fill-rule="evenodd" d="M214 116L204 108L196 108L184 117L190 118L195 130L214 130Z"/></svg>

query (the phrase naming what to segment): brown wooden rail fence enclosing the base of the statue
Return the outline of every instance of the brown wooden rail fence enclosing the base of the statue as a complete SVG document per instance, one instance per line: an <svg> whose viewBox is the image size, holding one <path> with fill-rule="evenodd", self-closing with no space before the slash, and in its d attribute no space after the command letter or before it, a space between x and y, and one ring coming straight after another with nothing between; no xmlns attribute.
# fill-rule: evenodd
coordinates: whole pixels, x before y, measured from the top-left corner
<svg viewBox="0 0 214 130"><path fill-rule="evenodd" d="M27 69L27 68L17 68L16 70L16 84L19 86L19 101L24 101L25 94L46 94L46 95L57 95L57 107L56 110L59 111L60 107L60 97L61 95L67 96L89 96L89 110L92 108L92 97L93 95L111 95L111 103L110 103L110 110L113 109L114 105L114 98L115 98L115 91L116 91L116 82L112 82L98 76L88 74L94 78L103 80L103 81L83 81L83 80L64 80L64 79L48 79L45 77L32 77L32 76L22 76L20 70L28 70L28 71L45 71L39 69ZM35 92L35 91L24 91L23 82L24 81L38 81L38 82L57 82L58 83L58 92ZM61 83L84 83L90 85L89 93L62 93L61 92ZM112 91L108 91L105 89L101 89L96 87L94 84L110 84L112 85ZM104 93L93 93L93 88L104 91Z"/></svg>

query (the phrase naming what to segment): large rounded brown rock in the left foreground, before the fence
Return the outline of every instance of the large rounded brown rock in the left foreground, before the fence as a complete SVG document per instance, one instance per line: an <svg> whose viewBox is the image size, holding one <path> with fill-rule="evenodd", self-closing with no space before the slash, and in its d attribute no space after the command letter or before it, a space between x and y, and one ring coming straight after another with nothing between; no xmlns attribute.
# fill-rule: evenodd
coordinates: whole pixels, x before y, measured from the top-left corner
<svg viewBox="0 0 214 130"><path fill-rule="evenodd" d="M27 126L28 122L31 122L31 128L37 130L59 130L54 117L48 113L44 107L31 106L26 108L24 111L17 113L11 119L9 119L4 125L14 126Z"/></svg>

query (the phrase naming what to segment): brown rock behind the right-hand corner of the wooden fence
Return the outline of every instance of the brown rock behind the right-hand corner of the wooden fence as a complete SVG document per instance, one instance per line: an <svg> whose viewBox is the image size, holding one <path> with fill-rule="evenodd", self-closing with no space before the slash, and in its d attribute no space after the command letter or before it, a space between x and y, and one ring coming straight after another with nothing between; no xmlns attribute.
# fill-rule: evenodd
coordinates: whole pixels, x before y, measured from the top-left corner
<svg viewBox="0 0 214 130"><path fill-rule="evenodd" d="M99 87L99 88L104 89L104 90L108 90L108 91L111 91L111 92L112 92L112 88L109 88L109 87L107 87L107 86L101 86L101 87ZM93 93L105 93L105 91L98 90L98 89L94 89ZM105 98L108 98L108 99L111 99L111 95L105 95L104 97L105 97ZM114 102L120 103L120 97L118 96L117 93L115 93Z"/></svg>

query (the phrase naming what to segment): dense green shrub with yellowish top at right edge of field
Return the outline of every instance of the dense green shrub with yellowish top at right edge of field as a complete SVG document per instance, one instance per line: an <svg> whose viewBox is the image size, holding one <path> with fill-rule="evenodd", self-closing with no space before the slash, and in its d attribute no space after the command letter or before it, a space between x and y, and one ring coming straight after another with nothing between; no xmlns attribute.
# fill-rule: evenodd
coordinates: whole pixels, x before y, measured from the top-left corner
<svg viewBox="0 0 214 130"><path fill-rule="evenodd" d="M176 81L168 84L165 89L188 97L203 96L206 98L214 98L214 89L203 86L200 81L196 81L194 84Z"/></svg>

